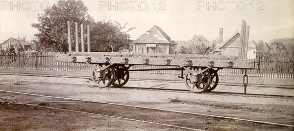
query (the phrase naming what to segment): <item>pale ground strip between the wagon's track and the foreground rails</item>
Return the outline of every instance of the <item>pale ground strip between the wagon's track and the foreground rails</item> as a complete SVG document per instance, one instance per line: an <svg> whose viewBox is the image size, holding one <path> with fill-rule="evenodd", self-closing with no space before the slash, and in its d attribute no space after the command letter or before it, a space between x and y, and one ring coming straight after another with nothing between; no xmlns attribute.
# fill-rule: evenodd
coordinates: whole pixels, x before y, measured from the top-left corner
<svg viewBox="0 0 294 131"><path fill-rule="evenodd" d="M272 97L250 97L218 94L195 94L191 92L174 92L158 90L138 90L122 88L98 88L98 87L56 87L55 84L11 84L0 85L2 90L18 91L32 94L49 95L57 97L75 98L82 100L122 103L126 105L144 106L150 108L172 109L195 113L212 115L222 115L227 117L237 117L243 119L262 120L275 123L294 125L294 117L289 107L294 106L294 99L272 98ZM44 86L44 85L43 85ZM9 96L1 96L9 98ZM13 99L13 98L10 98ZM20 98L21 99L21 98ZM182 102L174 103L172 99L179 99ZM188 103L187 101L199 101L202 104ZM209 106L210 105L220 105ZM230 106L234 106L234 109ZM284 110L272 112L272 106L280 107ZM258 110L264 107L265 111ZM248 109L248 110L245 110ZM250 109L250 110L249 110ZM208 112L207 110L210 110Z"/></svg>

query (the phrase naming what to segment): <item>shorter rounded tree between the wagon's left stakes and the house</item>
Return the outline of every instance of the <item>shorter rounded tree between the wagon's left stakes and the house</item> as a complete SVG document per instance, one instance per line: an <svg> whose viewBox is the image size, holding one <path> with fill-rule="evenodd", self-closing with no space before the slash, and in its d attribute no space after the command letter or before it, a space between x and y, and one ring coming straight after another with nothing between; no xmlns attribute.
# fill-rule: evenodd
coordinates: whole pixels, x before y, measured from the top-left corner
<svg viewBox="0 0 294 131"><path fill-rule="evenodd" d="M127 33L135 27L126 28L126 23L115 21L96 22L91 27L91 51L111 52L130 49L131 40Z"/></svg>

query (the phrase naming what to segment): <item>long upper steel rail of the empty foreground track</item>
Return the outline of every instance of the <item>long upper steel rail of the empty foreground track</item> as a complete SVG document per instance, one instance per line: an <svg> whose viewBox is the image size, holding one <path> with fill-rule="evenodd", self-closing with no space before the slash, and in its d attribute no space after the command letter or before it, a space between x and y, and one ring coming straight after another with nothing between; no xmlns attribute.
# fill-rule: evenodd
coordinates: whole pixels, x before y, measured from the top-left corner
<svg viewBox="0 0 294 131"><path fill-rule="evenodd" d="M31 93L24 93L24 92L15 92L15 91L6 91L6 90L0 90L0 92L15 93L15 94L25 94L25 95L30 95L30 96L39 96L39 97L55 98L55 99L63 99L63 100L74 100L74 101L82 101L82 102L92 102L92 103L100 103L100 104L123 106L123 107L132 107L132 108L140 108L140 109L151 109L151 110L167 111L167 112L174 112L174 113L184 113L184 114L192 114L192 115L201 115L201 116L221 118L221 119L239 120L239 121L254 122L254 123L259 123L259 124L268 124L268 125L276 125L276 126L283 126L283 127L291 127L291 128L294 128L294 125L287 125L287 124L273 123L273 122L265 122L265 121L257 121L257 120L248 120L248 119L234 118L234 117L226 117L226 116L220 116L220 115L210 115L210 114L203 114L203 113L193 113L193 112L177 111L177 110L171 110L171 109L148 108L148 107L142 107L142 106L131 106L131 105L125 105L125 104L117 104L117 103L109 103L109 102L99 102L99 101L89 101L89 100L64 98L64 97L55 97L55 96L38 95L38 94L31 94Z"/></svg>

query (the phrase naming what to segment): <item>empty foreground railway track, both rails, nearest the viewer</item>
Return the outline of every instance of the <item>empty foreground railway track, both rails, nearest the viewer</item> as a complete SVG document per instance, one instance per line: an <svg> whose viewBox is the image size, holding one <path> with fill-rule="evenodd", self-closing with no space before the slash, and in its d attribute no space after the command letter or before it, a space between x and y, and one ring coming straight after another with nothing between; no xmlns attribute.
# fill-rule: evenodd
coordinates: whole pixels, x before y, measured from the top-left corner
<svg viewBox="0 0 294 131"><path fill-rule="evenodd" d="M16 91L0 90L0 92L14 93L14 94L23 94L23 95L29 95L29 96L45 97L45 98L53 98L53 99L69 100L69 101L91 102L91 103L107 104L107 105L113 105L113 106L123 106L123 107L139 108L139 109L167 111L167 112L190 114L190 115L200 115L200 116L205 116L205 117L213 117L213 118L220 118L220 119L237 120L237 121L244 121L244 122L253 122L253 123L258 123L258 124L268 124L268 125L275 125L275 126L282 126L282 127L294 128L294 125L287 125L287 124L280 124L280 123L272 123L272 122L266 122L266 121L249 120L249 119L241 119L241 118L234 118L234 117L225 117L225 116L221 116L221 115L210 115L210 114L203 114L203 113L177 111L177 110L171 110L171 109L149 108L149 107L142 107L142 106L132 106L132 105L125 105L125 104L100 102L100 101L89 101L89 100L82 100L82 99L72 99L72 98L64 98L64 97L38 95L38 94L31 94L31 93L24 93L24 92L16 92ZM22 103L20 103L20 104L22 104ZM25 104L25 105L28 105L28 106L36 106L36 105L32 105L32 104ZM59 109L59 108L44 107L44 106L38 106L38 107L50 108L50 109ZM140 121L140 122L147 122L147 123L151 123L151 124L158 124L158 125L164 125L164 126L170 126L170 127L176 127L176 128L182 128L182 129L188 129L188 130L202 131L202 130L191 129L191 128L187 128L187 127L173 126L173 125L168 125L168 124L154 123L154 122L148 122L148 121L142 121L142 120L130 119L130 118L124 118L124 117L117 117L117 116L111 116L111 115L104 115L104 114L98 114L98 113L89 113L89 112L76 111L76 110L70 110L70 109L60 109L60 110L74 111L74 112L88 113L88 114L95 114L95 115L103 115L103 116L108 116L108 117L115 117L115 118L120 118L120 119L127 119L127 120Z"/></svg>

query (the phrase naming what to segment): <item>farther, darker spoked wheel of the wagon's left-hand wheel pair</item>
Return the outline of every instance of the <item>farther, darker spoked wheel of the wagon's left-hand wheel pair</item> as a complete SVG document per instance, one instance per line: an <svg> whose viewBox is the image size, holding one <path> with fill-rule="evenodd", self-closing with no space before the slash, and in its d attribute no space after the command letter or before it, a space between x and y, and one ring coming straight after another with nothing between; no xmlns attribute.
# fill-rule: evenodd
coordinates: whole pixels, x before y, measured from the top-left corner
<svg viewBox="0 0 294 131"><path fill-rule="evenodd" d="M123 87L129 79L129 71L127 67L125 67L122 64L119 65L113 65L114 71L115 71L115 79L112 83L113 86L116 87Z"/></svg>

